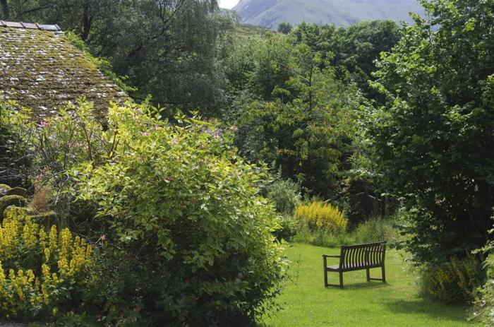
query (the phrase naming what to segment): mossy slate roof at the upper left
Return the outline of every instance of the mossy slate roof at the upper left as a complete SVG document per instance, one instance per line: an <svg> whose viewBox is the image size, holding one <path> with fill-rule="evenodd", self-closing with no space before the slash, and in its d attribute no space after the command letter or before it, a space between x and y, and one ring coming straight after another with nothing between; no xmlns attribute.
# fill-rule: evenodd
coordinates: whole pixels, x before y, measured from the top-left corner
<svg viewBox="0 0 494 327"><path fill-rule="evenodd" d="M109 102L129 99L57 25L4 21L0 21L0 93L40 118L80 97L92 102L102 116Z"/></svg>

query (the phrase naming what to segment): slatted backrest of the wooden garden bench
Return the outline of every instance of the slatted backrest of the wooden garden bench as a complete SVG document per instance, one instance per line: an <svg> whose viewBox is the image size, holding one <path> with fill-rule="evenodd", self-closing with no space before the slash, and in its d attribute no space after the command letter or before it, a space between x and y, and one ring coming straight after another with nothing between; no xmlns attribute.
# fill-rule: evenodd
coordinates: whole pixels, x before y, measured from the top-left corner
<svg viewBox="0 0 494 327"><path fill-rule="evenodd" d="M379 267L384 263L385 254L386 242L344 245L339 259L339 268Z"/></svg>

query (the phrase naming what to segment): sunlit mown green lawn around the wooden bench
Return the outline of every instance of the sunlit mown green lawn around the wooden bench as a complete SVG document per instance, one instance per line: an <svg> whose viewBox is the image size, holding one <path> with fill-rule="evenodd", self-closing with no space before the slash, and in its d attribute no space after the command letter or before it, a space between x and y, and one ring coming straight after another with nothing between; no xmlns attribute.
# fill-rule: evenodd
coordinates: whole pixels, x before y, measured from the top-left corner
<svg viewBox="0 0 494 327"><path fill-rule="evenodd" d="M474 326L466 321L466 307L420 297L416 277L397 251L386 254L387 284L367 283L366 270L359 270L344 273L342 290L324 287L321 257L339 254L339 249L287 244L286 254L291 260L291 281L278 299L283 310L266 318L265 326ZM380 269L371 270L370 275L380 278ZM338 283L338 274L330 273L328 282Z"/></svg>

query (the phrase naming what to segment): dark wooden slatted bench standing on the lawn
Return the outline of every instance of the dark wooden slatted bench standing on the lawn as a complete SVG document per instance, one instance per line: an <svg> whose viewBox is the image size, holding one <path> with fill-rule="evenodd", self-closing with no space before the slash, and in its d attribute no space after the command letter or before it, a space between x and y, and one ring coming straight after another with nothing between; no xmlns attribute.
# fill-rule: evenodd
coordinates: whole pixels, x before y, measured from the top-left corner
<svg viewBox="0 0 494 327"><path fill-rule="evenodd" d="M384 258L386 254L386 242L344 245L339 256L327 256L323 254L324 286L343 287L343 273L354 270L367 270L367 281L381 280L386 283ZM327 266L327 258L339 258L336 266ZM370 268L381 268L382 278L370 278ZM327 273L339 273L339 285L327 283Z"/></svg>

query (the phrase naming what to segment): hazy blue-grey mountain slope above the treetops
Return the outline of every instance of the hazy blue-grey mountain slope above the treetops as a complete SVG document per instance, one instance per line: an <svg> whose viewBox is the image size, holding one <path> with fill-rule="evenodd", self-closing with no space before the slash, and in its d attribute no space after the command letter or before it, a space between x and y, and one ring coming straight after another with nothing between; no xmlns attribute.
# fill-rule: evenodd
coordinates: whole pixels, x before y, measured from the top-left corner
<svg viewBox="0 0 494 327"><path fill-rule="evenodd" d="M273 29L283 22L338 26L375 19L410 22L409 12L423 13L416 0L241 0L234 10L243 23Z"/></svg>

